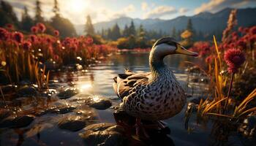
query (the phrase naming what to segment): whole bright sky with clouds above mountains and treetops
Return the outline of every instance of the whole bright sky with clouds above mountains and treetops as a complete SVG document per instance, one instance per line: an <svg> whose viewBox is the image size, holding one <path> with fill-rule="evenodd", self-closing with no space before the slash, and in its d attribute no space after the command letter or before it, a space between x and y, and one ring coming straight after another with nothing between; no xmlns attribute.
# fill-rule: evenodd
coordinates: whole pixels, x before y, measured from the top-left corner
<svg viewBox="0 0 256 146"><path fill-rule="evenodd" d="M14 7L21 18L23 7L34 17L36 0L5 0ZM92 23L120 17L173 19L181 15L196 15L200 12L219 12L226 7L256 7L256 0L59 0L61 15L74 24L84 24L86 15ZM53 0L41 0L43 17L53 16Z"/></svg>

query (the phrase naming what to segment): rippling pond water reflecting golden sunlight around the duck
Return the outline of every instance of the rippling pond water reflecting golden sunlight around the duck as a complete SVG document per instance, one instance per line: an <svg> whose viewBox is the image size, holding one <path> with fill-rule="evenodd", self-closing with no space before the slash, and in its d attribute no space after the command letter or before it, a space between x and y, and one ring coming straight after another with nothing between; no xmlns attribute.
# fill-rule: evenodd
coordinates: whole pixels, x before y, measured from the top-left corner
<svg viewBox="0 0 256 146"><path fill-rule="evenodd" d="M191 90L187 87L184 61L192 61L192 59L196 60L197 58L181 55L165 58L165 63L173 69L178 81L189 93ZM86 125L116 123L113 112L120 100L113 91L112 83L113 77L124 72L125 68L134 72L148 72L148 53L115 54L86 69L78 71L66 69L51 73L49 87L53 90L50 95L21 97L12 101L15 104L10 105L9 108L16 112L22 111L29 114L34 111L33 114L36 117L25 128L0 128L0 145L86 145L79 136L85 131L84 129L68 131L61 129L59 123L61 120L67 120L70 116L86 118ZM66 88L78 88L79 93L69 99L59 99L57 93ZM84 103L88 97L91 97L92 101L102 97L109 99L112 102L112 107L106 110L97 110L99 108L86 106ZM68 108L58 110L61 106ZM165 120L167 126L170 127L170 138L174 145L215 145L217 142L211 137L213 123L199 125L193 116L189 120L189 130L184 127L186 107L175 117ZM46 110L48 112L45 112Z"/></svg>

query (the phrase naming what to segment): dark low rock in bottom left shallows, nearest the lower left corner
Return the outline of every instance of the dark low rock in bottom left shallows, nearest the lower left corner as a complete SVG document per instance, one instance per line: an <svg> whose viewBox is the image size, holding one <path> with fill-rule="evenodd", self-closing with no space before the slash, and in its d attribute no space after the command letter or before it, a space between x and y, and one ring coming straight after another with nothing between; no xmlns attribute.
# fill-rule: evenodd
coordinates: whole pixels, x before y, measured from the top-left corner
<svg viewBox="0 0 256 146"><path fill-rule="evenodd" d="M20 128L20 127L29 126L30 123L32 123L33 120L34 120L33 115L18 116L12 121L13 122L12 128Z"/></svg>

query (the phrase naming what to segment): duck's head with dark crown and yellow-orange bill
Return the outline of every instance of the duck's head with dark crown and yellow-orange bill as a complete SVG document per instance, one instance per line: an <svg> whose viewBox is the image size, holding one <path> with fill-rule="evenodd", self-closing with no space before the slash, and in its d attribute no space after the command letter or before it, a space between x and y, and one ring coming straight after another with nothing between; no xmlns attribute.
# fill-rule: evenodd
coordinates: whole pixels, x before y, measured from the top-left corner
<svg viewBox="0 0 256 146"><path fill-rule="evenodd" d="M154 53L159 55L161 58L171 54L184 54L195 57L198 55L197 53L185 49L185 47L181 46L172 37L164 37L162 39L158 39L157 42L154 43L152 51L154 51Z"/></svg>

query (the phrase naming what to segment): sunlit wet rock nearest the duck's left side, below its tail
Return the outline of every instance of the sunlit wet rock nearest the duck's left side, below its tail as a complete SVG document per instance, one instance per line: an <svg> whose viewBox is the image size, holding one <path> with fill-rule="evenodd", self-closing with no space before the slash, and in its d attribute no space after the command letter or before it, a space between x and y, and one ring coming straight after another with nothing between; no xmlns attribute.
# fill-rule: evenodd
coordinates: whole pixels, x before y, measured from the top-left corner
<svg viewBox="0 0 256 146"><path fill-rule="evenodd" d="M103 99L98 96L88 97L90 107L94 107L97 110L106 110L112 106L112 103L108 99Z"/></svg>

